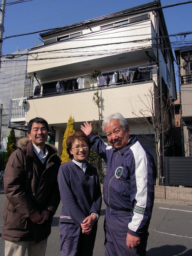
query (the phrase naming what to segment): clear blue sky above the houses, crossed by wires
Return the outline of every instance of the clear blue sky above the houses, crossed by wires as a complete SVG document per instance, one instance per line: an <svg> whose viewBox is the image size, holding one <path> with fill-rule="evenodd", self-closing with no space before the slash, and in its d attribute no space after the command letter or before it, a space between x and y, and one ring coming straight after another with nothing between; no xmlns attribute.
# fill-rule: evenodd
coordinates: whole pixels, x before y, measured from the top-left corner
<svg viewBox="0 0 192 256"><path fill-rule="evenodd" d="M6 0L6 2L12 2ZM20 4L6 6L4 18L4 35L12 36L56 28L74 24L91 18L117 12L140 4L152 2L150 0L32 0ZM161 0L162 6L187 2L186 0ZM192 31L192 3L163 9L168 34ZM31 48L41 44L39 33L3 41L3 55L19 50ZM177 36L170 37L171 42L183 40ZM187 35L184 43L191 44L192 35ZM176 80L178 78L176 77Z"/></svg>

